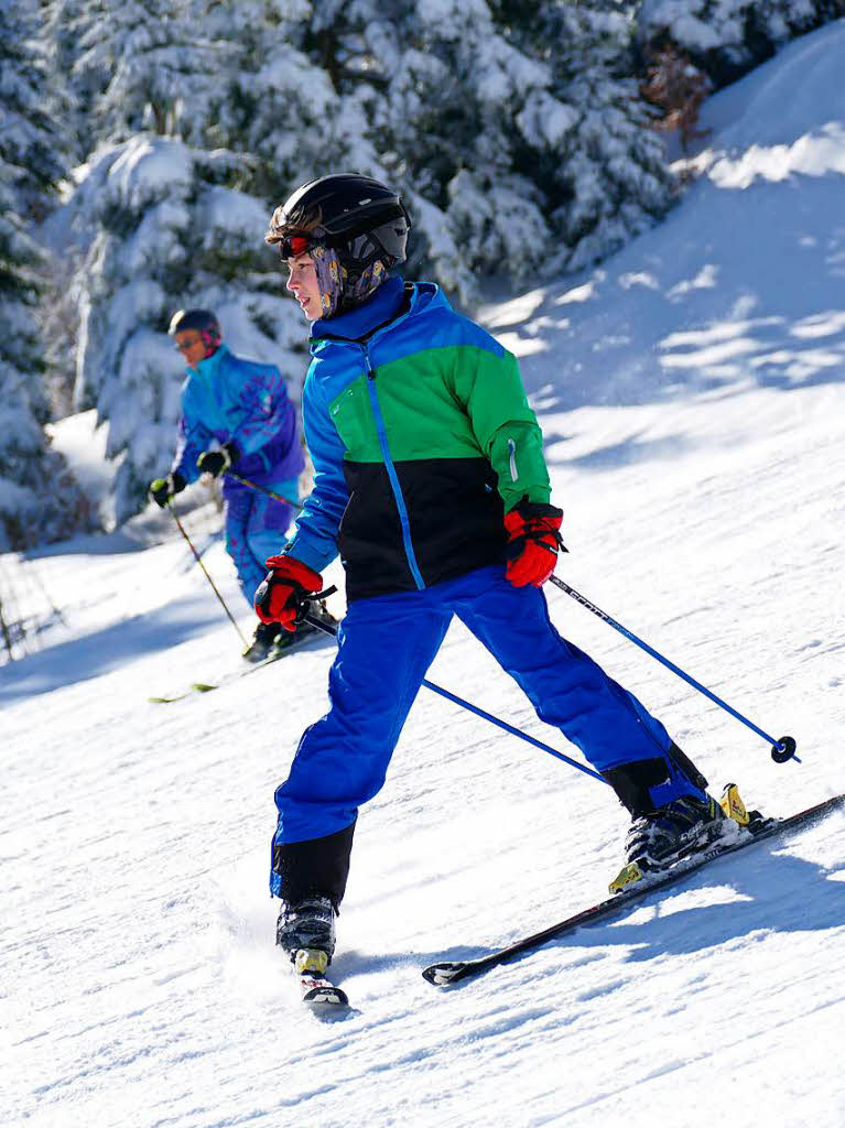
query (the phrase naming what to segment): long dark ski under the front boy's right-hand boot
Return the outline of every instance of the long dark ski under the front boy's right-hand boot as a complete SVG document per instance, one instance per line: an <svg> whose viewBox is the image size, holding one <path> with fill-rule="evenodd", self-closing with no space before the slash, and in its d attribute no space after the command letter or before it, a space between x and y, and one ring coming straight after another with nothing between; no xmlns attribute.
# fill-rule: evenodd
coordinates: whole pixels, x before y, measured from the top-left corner
<svg viewBox="0 0 845 1128"><path fill-rule="evenodd" d="M523 940L516 941L505 948L490 952L487 955L478 957L475 960L432 963L431 967L425 968L423 971L423 979L435 987L446 987L449 984L459 982L461 979L470 979L483 975L491 968L507 963L509 960L525 952L539 948L549 940L555 940L566 933L574 932L581 925L596 924L620 916L632 905L648 897L649 893L683 881L684 878L695 873L716 858L725 857L728 854L745 849L746 846L754 846L766 838L782 837L791 834L800 827L822 819L826 814L840 807L845 807L845 794L835 795L833 799L827 799L815 807L808 807L807 810L799 811L796 814L791 814L784 819L765 820L759 825L759 829L748 829L739 839L722 840L721 843L716 840L701 853L676 863L668 871L646 874L641 881L630 885L622 892L615 893L599 901L597 905L592 905L590 908L582 909L573 916L566 917L565 920L561 920L549 928L544 928L543 932L535 933L532 936L526 936Z"/></svg>

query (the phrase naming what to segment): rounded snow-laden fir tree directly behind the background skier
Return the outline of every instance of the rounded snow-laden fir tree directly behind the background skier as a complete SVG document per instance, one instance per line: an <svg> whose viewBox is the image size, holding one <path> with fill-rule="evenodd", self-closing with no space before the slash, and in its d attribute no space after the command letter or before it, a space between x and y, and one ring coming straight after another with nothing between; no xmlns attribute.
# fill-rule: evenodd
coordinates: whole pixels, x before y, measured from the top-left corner
<svg viewBox="0 0 845 1128"><path fill-rule="evenodd" d="M108 421L117 521L143 504L173 455L184 377L167 336L176 309L215 310L236 352L301 378L302 359L290 354L300 319L263 243L266 208L230 186L241 175L226 150L155 135L107 147L77 174L65 213L86 248L76 405Z"/></svg>

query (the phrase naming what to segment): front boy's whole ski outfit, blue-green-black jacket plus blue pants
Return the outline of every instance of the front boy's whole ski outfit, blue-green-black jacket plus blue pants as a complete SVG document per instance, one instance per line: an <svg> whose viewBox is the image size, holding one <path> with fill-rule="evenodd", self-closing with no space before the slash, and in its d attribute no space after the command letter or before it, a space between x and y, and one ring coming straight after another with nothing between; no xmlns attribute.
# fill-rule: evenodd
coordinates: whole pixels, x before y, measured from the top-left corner
<svg viewBox="0 0 845 1128"><path fill-rule="evenodd" d="M273 893L340 904L359 808L382 786L455 616L599 772L666 764L650 802L703 795L660 721L561 637L542 590L505 579L505 506L549 488L514 358L437 287L401 279L316 321L311 355L302 421L315 487L287 550L322 571L340 539L349 610L329 711L275 792Z"/></svg>

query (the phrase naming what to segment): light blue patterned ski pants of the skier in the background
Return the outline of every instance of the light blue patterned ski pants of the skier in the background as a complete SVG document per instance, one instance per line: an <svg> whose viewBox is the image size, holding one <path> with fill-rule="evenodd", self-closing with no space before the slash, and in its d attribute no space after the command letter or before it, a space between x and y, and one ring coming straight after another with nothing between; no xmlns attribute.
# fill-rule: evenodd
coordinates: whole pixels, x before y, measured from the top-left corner
<svg viewBox="0 0 845 1128"><path fill-rule="evenodd" d="M292 501L299 499L298 478L269 488ZM264 561L282 550L293 510L258 490L234 482L226 483L223 499L226 550L235 562L240 590L252 607L255 589L267 574Z"/></svg>

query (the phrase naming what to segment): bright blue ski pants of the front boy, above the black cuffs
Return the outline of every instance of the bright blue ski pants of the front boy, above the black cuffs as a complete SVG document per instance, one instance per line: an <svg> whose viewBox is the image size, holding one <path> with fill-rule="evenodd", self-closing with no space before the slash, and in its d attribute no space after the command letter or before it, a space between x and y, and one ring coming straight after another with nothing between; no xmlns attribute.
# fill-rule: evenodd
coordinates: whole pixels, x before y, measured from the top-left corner
<svg viewBox="0 0 845 1128"><path fill-rule="evenodd" d="M350 605L328 678L329 711L306 730L290 774L275 792L274 844L350 827L359 807L381 788L402 726L454 615L518 682L540 720L560 729L597 770L669 749L660 721L557 634L539 589L512 587L502 567L479 569L422 591ZM271 888L279 895L276 875Z"/></svg>

